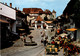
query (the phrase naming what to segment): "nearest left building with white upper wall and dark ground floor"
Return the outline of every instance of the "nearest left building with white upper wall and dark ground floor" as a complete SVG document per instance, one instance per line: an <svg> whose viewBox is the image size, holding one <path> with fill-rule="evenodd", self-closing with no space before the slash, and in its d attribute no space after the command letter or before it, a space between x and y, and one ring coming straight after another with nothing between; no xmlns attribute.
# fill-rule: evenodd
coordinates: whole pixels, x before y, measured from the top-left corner
<svg viewBox="0 0 80 56"><path fill-rule="evenodd" d="M3 48L9 44L10 32L16 32L16 10L12 8L12 3L8 6L7 3L0 2L0 25L1 48Z"/></svg>

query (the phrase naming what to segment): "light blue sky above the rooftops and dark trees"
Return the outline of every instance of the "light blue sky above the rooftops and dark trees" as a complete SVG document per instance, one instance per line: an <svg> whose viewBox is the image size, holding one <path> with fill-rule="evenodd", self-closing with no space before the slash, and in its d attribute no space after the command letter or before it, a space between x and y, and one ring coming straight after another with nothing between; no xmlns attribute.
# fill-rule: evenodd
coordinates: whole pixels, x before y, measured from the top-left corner
<svg viewBox="0 0 80 56"><path fill-rule="evenodd" d="M23 8L41 8L43 10L55 10L56 16L60 16L70 0L0 0L0 2L12 3L12 7L19 7L22 11Z"/></svg>

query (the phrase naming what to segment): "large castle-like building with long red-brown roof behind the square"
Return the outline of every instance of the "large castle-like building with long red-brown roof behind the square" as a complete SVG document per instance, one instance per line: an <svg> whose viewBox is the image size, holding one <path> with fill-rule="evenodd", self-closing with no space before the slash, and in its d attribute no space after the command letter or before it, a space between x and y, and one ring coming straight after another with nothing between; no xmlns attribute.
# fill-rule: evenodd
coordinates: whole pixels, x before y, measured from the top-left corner
<svg viewBox="0 0 80 56"><path fill-rule="evenodd" d="M56 12L55 11L51 12L48 9L43 11L41 8L23 8L23 12L27 14L26 19L28 21L29 26L34 26L33 23L38 18L42 19L43 21L45 21L45 17L48 20L53 20L54 18L56 18Z"/></svg>

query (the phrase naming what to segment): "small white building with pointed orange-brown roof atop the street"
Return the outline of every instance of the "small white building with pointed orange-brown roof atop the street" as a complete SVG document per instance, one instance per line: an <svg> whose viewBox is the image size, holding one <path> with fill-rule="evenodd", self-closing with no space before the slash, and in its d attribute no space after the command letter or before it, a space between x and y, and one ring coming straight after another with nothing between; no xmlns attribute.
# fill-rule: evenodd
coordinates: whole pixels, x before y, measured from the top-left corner
<svg viewBox="0 0 80 56"><path fill-rule="evenodd" d="M54 26L52 21L44 21L40 16L37 17L33 25L36 29L49 29Z"/></svg>

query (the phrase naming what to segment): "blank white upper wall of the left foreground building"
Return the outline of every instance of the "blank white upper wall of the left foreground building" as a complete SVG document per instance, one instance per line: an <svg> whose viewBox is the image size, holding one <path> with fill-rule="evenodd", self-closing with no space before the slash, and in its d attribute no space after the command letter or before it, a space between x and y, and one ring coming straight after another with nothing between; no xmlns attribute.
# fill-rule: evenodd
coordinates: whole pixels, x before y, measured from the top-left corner
<svg viewBox="0 0 80 56"><path fill-rule="evenodd" d="M0 3L0 8L2 8L2 10L0 10L1 15L4 15L6 17L16 20L16 10L1 3Z"/></svg>

